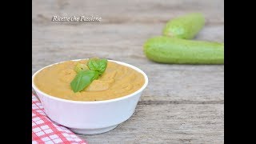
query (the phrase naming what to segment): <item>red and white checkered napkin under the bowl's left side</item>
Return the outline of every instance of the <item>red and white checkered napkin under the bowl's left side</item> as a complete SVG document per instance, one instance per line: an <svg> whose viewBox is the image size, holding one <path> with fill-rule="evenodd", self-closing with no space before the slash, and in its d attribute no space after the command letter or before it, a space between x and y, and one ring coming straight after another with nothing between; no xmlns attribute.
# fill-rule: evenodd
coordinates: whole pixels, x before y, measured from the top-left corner
<svg viewBox="0 0 256 144"><path fill-rule="evenodd" d="M32 143L86 144L66 127L50 121L42 103L32 94Z"/></svg>

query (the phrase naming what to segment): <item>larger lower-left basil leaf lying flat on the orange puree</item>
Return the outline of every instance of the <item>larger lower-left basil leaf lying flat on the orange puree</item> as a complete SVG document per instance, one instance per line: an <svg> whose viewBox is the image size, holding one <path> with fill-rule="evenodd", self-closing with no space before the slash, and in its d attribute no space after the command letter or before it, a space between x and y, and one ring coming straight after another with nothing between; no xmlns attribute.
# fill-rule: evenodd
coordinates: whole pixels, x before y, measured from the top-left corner
<svg viewBox="0 0 256 144"><path fill-rule="evenodd" d="M89 86L91 82L93 82L94 79L97 79L99 76L98 72L94 70L81 70L73 79L72 82L70 82L71 89L74 91L74 93L81 91L86 88L86 86Z"/></svg>

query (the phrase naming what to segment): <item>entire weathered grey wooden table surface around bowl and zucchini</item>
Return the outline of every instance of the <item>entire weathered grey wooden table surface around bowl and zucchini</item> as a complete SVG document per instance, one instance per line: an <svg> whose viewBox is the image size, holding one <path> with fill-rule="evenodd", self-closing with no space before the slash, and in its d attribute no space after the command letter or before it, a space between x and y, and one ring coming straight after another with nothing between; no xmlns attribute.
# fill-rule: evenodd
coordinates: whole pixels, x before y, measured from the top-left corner
<svg viewBox="0 0 256 144"><path fill-rule="evenodd" d="M222 0L33 0L32 73L77 58L110 58L138 66L149 77L134 115L89 143L223 143L224 66L166 65L142 52L170 19L206 15L196 39L224 41ZM102 17L102 22L51 22L54 15Z"/></svg>

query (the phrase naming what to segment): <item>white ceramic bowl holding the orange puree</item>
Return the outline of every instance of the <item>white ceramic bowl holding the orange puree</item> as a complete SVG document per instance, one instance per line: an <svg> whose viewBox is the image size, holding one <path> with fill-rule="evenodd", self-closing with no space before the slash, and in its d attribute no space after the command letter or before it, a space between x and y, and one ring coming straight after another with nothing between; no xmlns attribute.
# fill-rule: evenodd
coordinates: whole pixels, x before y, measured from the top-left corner
<svg viewBox="0 0 256 144"><path fill-rule="evenodd" d="M78 60L80 59L74 61ZM34 73L32 76L32 87L38 94L38 98L42 102L47 116L52 121L57 122L62 126L66 126L74 131L74 133L78 134L104 133L113 130L118 124L125 122L130 118L130 116L134 114L135 107L137 106L138 99L142 95L142 91L147 86L148 78L142 70L139 70L135 66L131 66L125 62L109 61L128 66L143 74L145 78L144 85L133 94L106 101L82 102L66 100L46 94L41 90L38 90L38 87L34 85L34 76L42 69L48 67L46 66Z"/></svg>

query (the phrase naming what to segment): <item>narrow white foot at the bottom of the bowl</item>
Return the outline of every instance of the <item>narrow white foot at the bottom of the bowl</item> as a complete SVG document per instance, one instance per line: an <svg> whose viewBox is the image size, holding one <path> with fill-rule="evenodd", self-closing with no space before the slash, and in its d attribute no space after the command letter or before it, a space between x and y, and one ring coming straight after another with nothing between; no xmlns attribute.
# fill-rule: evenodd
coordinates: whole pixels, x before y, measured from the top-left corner
<svg viewBox="0 0 256 144"><path fill-rule="evenodd" d="M70 130L76 134L102 134L107 131L113 130L117 126L118 125L105 127L105 128L101 128L101 129L70 129Z"/></svg>

